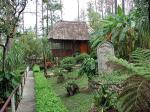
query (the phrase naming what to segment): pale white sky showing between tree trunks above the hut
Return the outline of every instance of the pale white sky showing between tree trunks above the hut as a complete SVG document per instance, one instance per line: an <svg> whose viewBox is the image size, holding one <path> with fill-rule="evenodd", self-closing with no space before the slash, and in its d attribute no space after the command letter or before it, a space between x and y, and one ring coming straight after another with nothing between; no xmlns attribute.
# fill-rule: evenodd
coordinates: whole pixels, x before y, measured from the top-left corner
<svg viewBox="0 0 150 112"><path fill-rule="evenodd" d="M35 17L35 11L36 11L36 0L32 0L28 3L25 13L24 13L24 24L25 28L32 27L34 28L35 23L36 23L36 17ZM38 0L38 24L40 25L40 17L41 17L41 0ZM80 10L85 10L87 9L87 2L90 0L79 0L80 2ZM77 5L77 0L62 0L63 3L63 20L67 21L73 21L78 17L78 5ZM28 12L33 12L28 13ZM38 26L39 26L38 25Z"/></svg>

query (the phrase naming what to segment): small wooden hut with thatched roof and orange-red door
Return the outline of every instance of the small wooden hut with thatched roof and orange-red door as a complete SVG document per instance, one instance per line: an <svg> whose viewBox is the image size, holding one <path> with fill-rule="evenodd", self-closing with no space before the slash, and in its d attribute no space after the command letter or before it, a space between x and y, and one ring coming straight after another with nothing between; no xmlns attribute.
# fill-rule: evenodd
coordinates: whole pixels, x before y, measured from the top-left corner
<svg viewBox="0 0 150 112"><path fill-rule="evenodd" d="M49 32L52 54L55 57L88 53L89 34L86 22L59 21Z"/></svg>

